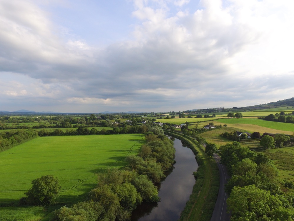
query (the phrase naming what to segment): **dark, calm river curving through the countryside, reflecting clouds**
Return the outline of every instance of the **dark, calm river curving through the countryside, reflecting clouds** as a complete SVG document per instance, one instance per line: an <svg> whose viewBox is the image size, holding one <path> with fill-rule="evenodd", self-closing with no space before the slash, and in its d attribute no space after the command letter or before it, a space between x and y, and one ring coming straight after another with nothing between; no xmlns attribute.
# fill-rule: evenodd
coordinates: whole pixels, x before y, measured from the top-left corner
<svg viewBox="0 0 294 221"><path fill-rule="evenodd" d="M176 149L176 164L161 183L160 202L138 206L133 211L132 221L176 221L180 218L192 193L195 184L193 172L198 168L198 164L191 149L183 147L178 139L173 142Z"/></svg>

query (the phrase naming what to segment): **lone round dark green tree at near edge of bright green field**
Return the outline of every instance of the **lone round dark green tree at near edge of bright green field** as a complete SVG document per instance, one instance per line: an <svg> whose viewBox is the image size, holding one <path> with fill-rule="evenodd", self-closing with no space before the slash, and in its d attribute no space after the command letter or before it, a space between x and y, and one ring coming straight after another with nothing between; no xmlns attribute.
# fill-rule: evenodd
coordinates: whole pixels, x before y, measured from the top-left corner
<svg viewBox="0 0 294 221"><path fill-rule="evenodd" d="M52 175L32 180L32 188L25 193L27 202L33 205L52 205L59 194L61 186Z"/></svg>

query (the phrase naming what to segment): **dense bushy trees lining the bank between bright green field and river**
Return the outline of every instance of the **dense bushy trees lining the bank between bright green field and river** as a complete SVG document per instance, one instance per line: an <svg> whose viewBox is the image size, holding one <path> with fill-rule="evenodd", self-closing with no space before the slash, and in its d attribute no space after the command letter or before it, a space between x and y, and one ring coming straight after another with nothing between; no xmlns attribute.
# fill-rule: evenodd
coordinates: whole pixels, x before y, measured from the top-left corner
<svg viewBox="0 0 294 221"><path fill-rule="evenodd" d="M126 158L124 170L98 174L98 185L89 192L88 200L55 210L52 220L129 220L141 202L158 202L154 183L173 167L175 149L164 135L148 132L146 140L138 156Z"/></svg>

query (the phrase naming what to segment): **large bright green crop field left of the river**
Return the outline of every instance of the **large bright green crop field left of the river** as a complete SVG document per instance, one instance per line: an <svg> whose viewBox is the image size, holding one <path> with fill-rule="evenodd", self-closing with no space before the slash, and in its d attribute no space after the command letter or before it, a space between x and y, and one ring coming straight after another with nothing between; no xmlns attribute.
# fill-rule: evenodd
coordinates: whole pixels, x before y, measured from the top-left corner
<svg viewBox="0 0 294 221"><path fill-rule="evenodd" d="M58 177L61 195L82 194L79 185L94 188L96 172L125 166L144 143L141 134L123 134L38 137L15 146L0 153L0 201L18 200L33 179L48 174Z"/></svg>

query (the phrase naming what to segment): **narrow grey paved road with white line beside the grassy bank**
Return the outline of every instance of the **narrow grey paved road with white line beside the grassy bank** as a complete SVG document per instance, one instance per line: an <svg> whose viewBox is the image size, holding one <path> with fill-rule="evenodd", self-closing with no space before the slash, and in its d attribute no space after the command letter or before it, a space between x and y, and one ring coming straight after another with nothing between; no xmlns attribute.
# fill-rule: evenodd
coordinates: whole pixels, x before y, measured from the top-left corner
<svg viewBox="0 0 294 221"><path fill-rule="evenodd" d="M204 145L203 145L204 146ZM213 210L211 221L230 221L230 214L227 211L227 202L228 195L225 193L225 184L227 179L229 179L228 171L220 164L220 156L218 154L213 154L213 158L218 164L218 169L220 170L220 189L218 191L218 199L216 200L216 205Z"/></svg>

